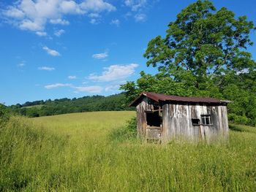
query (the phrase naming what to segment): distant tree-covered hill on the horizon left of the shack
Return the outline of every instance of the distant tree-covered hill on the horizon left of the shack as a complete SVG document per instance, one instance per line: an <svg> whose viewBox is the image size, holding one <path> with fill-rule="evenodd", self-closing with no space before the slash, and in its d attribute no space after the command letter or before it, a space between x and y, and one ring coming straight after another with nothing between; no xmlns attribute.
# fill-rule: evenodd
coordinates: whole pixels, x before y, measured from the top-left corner
<svg viewBox="0 0 256 192"><path fill-rule="evenodd" d="M31 118L72 112L134 110L127 106L124 93L112 96L83 96L78 99L27 101L24 104L11 105L9 108L12 112Z"/></svg>

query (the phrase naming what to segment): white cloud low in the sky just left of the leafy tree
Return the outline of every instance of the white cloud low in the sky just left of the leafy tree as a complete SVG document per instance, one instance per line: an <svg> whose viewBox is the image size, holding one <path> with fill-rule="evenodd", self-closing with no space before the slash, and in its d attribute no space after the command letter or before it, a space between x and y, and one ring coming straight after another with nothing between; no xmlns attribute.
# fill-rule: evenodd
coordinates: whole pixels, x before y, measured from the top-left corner
<svg viewBox="0 0 256 192"><path fill-rule="evenodd" d="M138 67L138 64L112 65L105 67L104 71L100 75L90 74L89 80L104 82L124 80L134 74L136 67Z"/></svg>

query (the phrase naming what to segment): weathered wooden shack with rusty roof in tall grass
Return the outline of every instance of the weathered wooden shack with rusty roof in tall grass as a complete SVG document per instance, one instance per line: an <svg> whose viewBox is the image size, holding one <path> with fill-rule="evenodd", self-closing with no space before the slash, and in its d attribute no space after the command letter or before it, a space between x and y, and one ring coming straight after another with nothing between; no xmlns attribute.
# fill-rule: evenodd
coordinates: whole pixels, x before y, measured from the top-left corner
<svg viewBox="0 0 256 192"><path fill-rule="evenodd" d="M138 134L146 139L226 139L227 103L213 98L141 93L130 106L137 109Z"/></svg>

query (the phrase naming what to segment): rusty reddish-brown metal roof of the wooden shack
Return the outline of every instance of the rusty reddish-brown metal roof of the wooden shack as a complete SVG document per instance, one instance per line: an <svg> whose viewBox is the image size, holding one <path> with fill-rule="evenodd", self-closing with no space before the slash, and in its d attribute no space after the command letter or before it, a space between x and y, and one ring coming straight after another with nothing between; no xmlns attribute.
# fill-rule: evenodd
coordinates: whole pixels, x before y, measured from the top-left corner
<svg viewBox="0 0 256 192"><path fill-rule="evenodd" d="M146 96L149 99L152 99L154 101L178 101L178 102L192 102L192 103L209 103L209 104L227 104L227 101L222 101L219 99L214 98L206 98L206 97L187 97L187 96L168 96L165 94L159 94L159 93L152 93L152 92L143 92L140 93L140 96L138 96L134 101L132 101L129 106L136 106L140 99Z"/></svg>

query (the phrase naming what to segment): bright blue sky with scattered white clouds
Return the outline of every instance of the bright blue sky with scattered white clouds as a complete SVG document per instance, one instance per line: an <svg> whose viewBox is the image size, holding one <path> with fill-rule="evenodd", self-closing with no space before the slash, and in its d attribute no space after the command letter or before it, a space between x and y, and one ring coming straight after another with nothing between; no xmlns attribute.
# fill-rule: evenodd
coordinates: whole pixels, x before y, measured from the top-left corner
<svg viewBox="0 0 256 192"><path fill-rule="evenodd" d="M0 103L119 93L191 0L0 1ZM215 0L256 23L255 0ZM256 42L255 33L251 35ZM249 48L255 59L256 45Z"/></svg>

